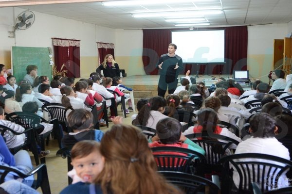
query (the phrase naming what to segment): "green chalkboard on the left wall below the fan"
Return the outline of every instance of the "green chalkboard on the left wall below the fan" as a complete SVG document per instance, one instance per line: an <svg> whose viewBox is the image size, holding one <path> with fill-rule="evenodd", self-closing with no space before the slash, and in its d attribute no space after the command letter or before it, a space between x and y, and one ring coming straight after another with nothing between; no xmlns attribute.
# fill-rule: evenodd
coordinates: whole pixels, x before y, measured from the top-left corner
<svg viewBox="0 0 292 194"><path fill-rule="evenodd" d="M16 81L23 80L27 65L37 65L38 76L52 78L52 65L50 65L49 48L41 47L12 47L12 69Z"/></svg>

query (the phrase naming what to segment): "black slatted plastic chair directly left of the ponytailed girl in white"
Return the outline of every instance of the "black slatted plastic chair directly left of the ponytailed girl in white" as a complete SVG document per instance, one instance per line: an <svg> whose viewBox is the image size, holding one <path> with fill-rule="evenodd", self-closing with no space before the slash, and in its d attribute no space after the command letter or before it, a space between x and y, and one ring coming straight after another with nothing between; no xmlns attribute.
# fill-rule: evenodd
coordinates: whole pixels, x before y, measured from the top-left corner
<svg viewBox="0 0 292 194"><path fill-rule="evenodd" d="M63 130L65 130L67 133L71 132L70 128L67 126L66 119L66 113L70 109L67 109L63 106L63 104L59 103L47 103L44 104L41 109L43 111L49 112L52 119L57 118Z"/></svg>

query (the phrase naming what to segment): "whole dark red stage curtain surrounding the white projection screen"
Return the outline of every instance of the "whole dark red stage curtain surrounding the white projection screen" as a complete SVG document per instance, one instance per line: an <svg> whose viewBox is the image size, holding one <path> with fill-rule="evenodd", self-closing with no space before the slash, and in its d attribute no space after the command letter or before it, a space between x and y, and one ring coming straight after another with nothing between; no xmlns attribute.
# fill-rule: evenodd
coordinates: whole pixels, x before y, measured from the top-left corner
<svg viewBox="0 0 292 194"><path fill-rule="evenodd" d="M222 28L212 28L222 29ZM224 28L223 28L224 29ZM157 75L155 68L159 57L167 53L167 45L171 42L171 31L178 29L143 30L143 64L147 75ZM187 29L179 29L187 30ZM210 30L206 28L204 30ZM187 70L200 74L232 74L233 70L246 70L247 59L247 26L225 28L225 65L220 64L184 64L183 74Z"/></svg>

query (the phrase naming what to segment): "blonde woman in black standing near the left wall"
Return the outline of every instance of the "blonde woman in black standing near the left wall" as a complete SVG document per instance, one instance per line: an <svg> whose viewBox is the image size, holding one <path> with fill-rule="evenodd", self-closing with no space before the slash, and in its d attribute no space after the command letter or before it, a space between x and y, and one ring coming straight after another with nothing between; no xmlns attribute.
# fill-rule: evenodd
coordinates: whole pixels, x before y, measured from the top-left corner
<svg viewBox="0 0 292 194"><path fill-rule="evenodd" d="M120 76L120 68L119 65L114 61L113 56L111 54L107 54L105 60L99 67L96 69L97 73L103 70L104 77L116 77Z"/></svg>

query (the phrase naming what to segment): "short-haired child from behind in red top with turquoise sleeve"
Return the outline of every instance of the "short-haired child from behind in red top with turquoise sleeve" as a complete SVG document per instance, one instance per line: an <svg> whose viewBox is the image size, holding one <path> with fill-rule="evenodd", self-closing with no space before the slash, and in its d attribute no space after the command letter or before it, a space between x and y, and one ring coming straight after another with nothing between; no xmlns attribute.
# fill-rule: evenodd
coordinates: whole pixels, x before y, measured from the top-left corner
<svg viewBox="0 0 292 194"><path fill-rule="evenodd" d="M174 118L164 118L157 123L157 134L149 139L149 147L173 146L194 150L201 154L205 151L201 146L186 138L182 133L181 123Z"/></svg>

